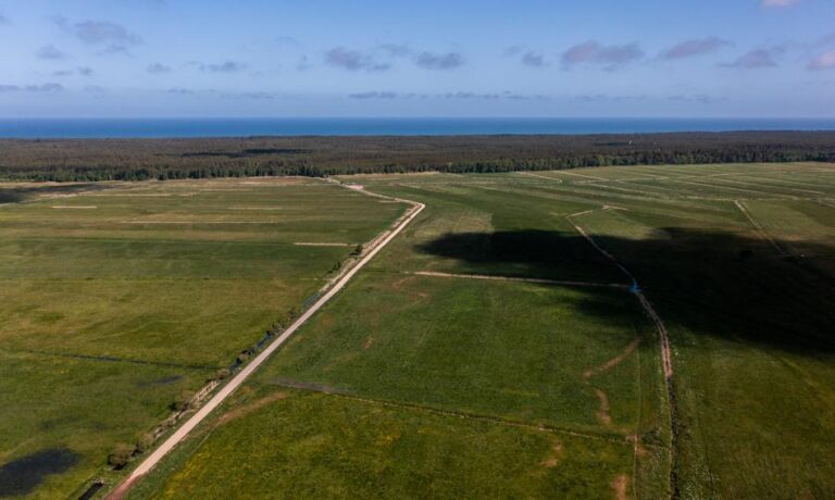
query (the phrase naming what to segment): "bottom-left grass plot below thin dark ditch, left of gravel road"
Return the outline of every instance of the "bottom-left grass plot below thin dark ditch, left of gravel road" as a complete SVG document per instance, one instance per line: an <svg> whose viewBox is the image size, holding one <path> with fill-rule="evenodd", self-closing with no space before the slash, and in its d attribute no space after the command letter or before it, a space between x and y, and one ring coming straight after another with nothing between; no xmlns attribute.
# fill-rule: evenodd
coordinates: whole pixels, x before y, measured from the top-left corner
<svg viewBox="0 0 835 500"><path fill-rule="evenodd" d="M76 462L45 476L29 496L77 497L116 443L137 442L171 414L169 403L180 391L211 375L186 366L0 350L0 464L68 450Z"/></svg>

